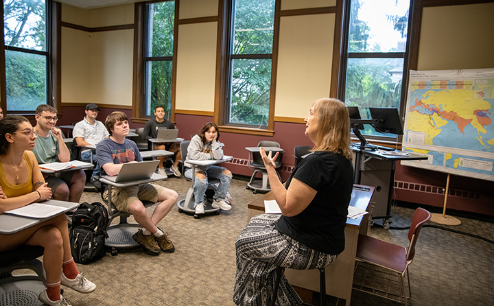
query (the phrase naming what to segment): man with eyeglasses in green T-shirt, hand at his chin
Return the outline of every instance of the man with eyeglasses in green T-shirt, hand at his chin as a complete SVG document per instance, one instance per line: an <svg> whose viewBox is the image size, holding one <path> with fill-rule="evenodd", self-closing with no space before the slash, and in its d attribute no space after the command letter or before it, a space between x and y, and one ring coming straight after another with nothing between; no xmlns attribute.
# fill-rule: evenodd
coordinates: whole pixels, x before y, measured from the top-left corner
<svg viewBox="0 0 494 306"><path fill-rule="evenodd" d="M63 141L62 131L55 126L58 121L56 108L42 104L36 108L34 118L36 119L34 130L38 132L38 138L36 138L33 152L38 163L70 161L71 154ZM54 200L79 202L86 183L84 171L74 170L43 174L43 176L45 176L48 187L51 188Z"/></svg>

